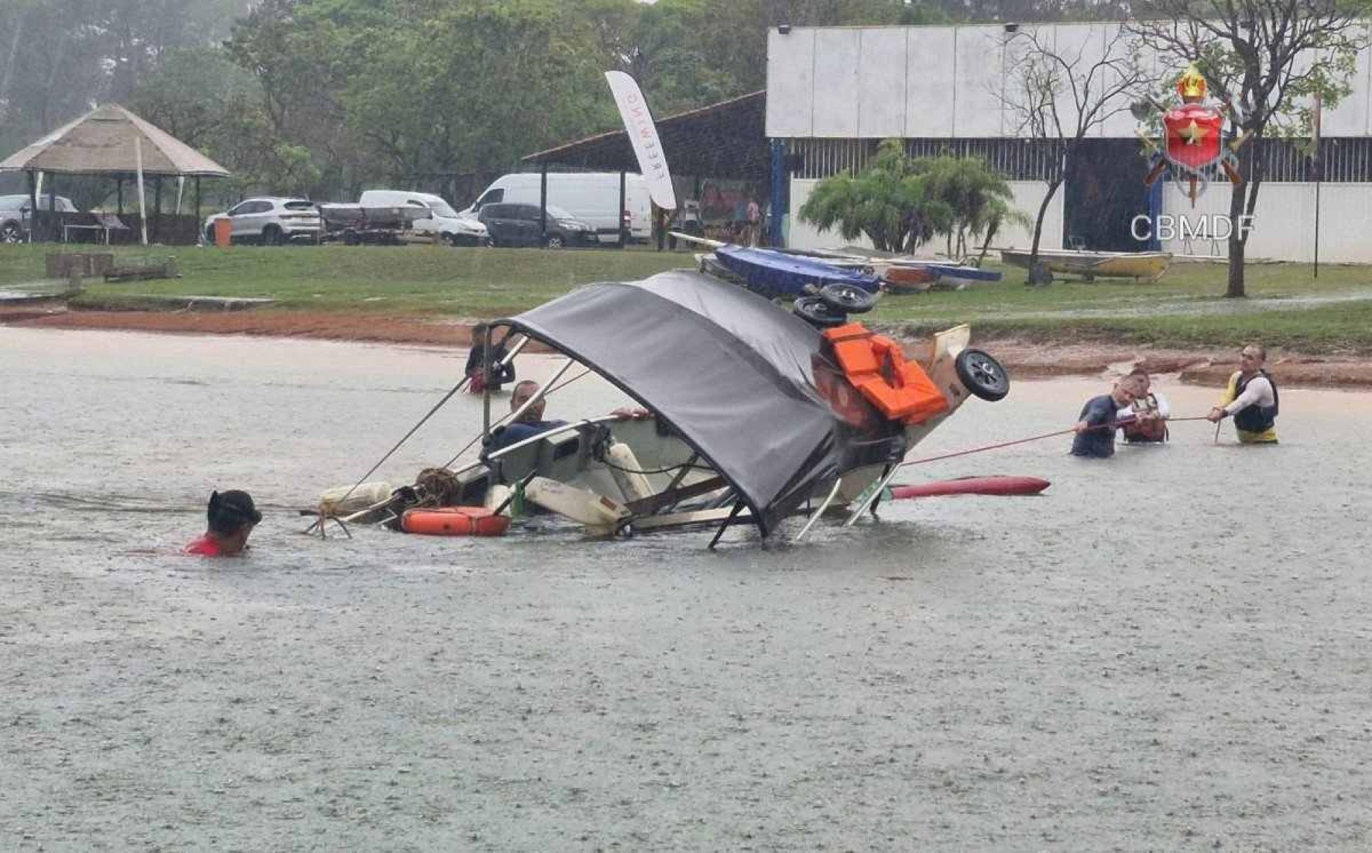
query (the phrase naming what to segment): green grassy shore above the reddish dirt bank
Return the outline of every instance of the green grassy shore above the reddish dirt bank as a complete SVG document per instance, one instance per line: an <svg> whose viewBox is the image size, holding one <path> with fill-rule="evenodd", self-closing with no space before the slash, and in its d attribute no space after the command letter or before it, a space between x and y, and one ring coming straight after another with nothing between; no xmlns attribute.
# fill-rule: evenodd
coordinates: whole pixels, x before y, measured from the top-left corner
<svg viewBox="0 0 1372 853"><path fill-rule="evenodd" d="M48 247L0 247L0 287L41 280ZM270 298L270 310L488 318L591 281L631 281L694 266L689 252L450 247L235 247L115 250L177 256L180 280L88 283L75 303L134 307L147 296ZM886 296L871 320L922 333L971 322L981 336L1232 346L1261 339L1309 352L1372 352L1372 267L1255 263L1249 299L1224 299L1225 267L1176 263L1155 284L1061 280L1028 288L1022 270L955 292Z"/></svg>

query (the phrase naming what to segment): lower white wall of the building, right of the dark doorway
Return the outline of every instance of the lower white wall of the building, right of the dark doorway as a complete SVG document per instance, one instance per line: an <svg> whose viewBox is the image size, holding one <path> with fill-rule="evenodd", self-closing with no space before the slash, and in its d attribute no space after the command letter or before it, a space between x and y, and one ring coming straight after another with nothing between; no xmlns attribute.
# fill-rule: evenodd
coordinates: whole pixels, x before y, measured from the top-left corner
<svg viewBox="0 0 1372 853"><path fill-rule="evenodd" d="M1320 187L1321 262L1372 263L1372 240L1367 236L1368 210L1372 210L1372 184ZM1169 185L1162 193L1162 211L1173 217L1187 217L1192 224L1214 225L1216 214L1229 213L1228 187L1211 185L1196 199L1192 208L1181 191L1176 185ZM1249 259L1313 262L1314 184L1262 184L1253 225ZM1207 237L1183 240L1177 236L1162 240L1162 248L1179 255L1228 256L1229 254L1225 240Z"/></svg>

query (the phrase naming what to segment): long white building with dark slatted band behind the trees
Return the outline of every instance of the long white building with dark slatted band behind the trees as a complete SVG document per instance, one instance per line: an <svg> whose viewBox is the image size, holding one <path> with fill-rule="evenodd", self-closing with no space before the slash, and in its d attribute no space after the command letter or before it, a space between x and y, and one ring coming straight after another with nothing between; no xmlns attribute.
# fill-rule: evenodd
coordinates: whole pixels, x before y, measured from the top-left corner
<svg viewBox="0 0 1372 853"><path fill-rule="evenodd" d="M1100 56L1118 23L1043 25L1037 37L1059 52ZM860 169L882 139L906 140L912 155L975 154L1006 174L1021 210L1033 217L1047 189L1041 143L1025 139L1013 108L1017 44L1006 26L937 27L786 27L767 41L767 136L785 147L790 211L788 243L834 245L794 214L819 178ZM1158 66L1158 78L1169 69ZM1180 69L1170 69L1180 70ZM1358 56L1351 95L1325 108L1320 154L1320 259L1372 262L1368 215L1372 210L1372 62ZM1010 89L1013 92L1013 89ZM1124 110L1104 122L1084 152L1080 180L1051 202L1043 245L1085 244L1098 250L1147 248L1131 233L1139 214L1227 214L1229 185L1213 182L1192 208L1176 185L1143 185L1147 160L1136 121ZM1266 140L1259 149L1266 177L1258 195L1250 258L1312 261L1316 189L1309 159L1288 141ZM1024 229L995 239L997 245L1028 247ZM1162 240L1179 254L1222 255L1224 240Z"/></svg>

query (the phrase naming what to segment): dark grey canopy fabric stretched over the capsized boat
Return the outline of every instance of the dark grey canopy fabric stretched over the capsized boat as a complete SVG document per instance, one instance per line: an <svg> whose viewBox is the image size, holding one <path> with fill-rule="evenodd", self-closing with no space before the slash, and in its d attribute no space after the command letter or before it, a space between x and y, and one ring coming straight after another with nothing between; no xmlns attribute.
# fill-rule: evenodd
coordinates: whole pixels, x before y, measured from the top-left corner
<svg viewBox="0 0 1372 853"><path fill-rule="evenodd" d="M681 270L593 284L499 321L595 369L723 476L766 535L815 488L899 458L903 433L866 403L836 411L823 337L771 302Z"/></svg>

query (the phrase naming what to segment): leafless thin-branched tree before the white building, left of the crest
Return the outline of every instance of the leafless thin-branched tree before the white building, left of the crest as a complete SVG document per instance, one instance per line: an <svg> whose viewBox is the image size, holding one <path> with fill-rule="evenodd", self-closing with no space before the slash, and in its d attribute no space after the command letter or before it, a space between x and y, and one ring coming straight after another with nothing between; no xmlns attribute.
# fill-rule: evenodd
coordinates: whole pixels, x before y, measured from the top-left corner
<svg viewBox="0 0 1372 853"><path fill-rule="evenodd" d="M1019 136L1045 140L1048 148L1048 191L1039 204L1029 250L1029 280L1034 284L1043 221L1058 188L1077 169L1081 141L1126 111L1131 96L1146 82L1126 30L1114 30L1099 55L1092 47L1052 45L1034 29L1021 29L1006 41L1006 89L997 96L1017 118Z"/></svg>

